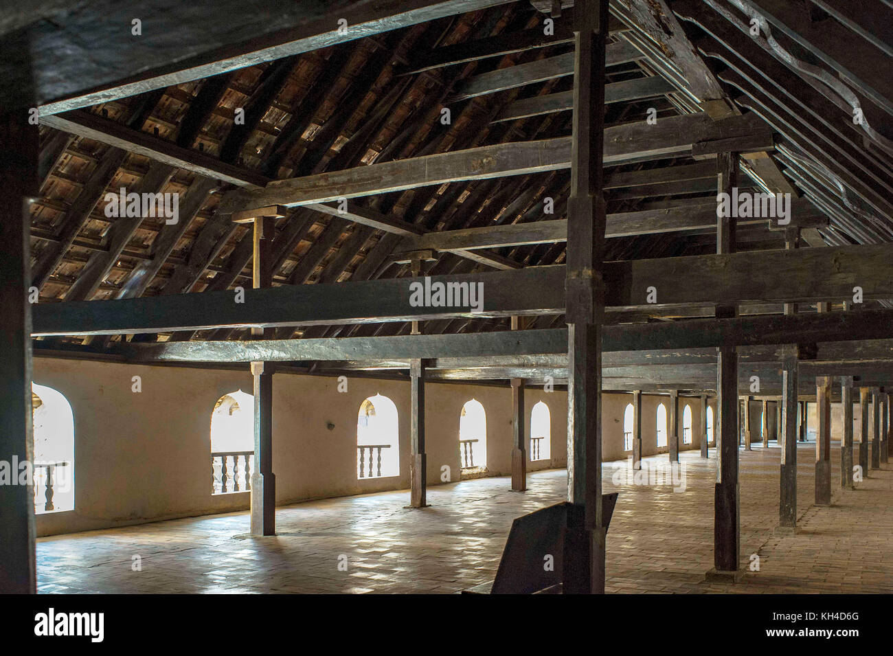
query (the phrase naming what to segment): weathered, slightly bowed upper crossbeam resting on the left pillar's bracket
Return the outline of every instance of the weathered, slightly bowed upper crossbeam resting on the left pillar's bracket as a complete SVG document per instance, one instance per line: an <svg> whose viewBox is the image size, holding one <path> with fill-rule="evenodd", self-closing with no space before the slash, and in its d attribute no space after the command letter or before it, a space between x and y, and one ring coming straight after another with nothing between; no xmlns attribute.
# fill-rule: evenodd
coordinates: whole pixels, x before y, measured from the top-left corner
<svg viewBox="0 0 893 656"><path fill-rule="evenodd" d="M687 154L692 145L753 134L762 121L753 114L711 120L706 114L674 116L658 121L628 123L605 129L604 162ZM272 181L260 191L237 190L226 195L219 212L238 212L265 205L307 205L363 195L385 194L415 187L472 179L567 169L572 137L480 146L468 150L381 162Z"/></svg>

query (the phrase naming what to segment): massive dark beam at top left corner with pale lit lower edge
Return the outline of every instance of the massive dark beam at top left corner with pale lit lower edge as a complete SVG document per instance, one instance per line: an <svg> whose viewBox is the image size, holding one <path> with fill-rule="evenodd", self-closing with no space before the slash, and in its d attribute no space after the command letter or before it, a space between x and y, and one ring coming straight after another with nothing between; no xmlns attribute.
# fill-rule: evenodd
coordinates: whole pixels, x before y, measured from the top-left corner
<svg viewBox="0 0 893 656"><path fill-rule="evenodd" d="M507 0L362 0L284 6L256 0L252 11L238 0L196 0L163 5L141 2L110 6L99 0L79 5L77 13L35 33L34 53L65 52L64 58L36 58L41 115L118 100L163 87L208 78L246 66L371 37L428 21L505 4ZM144 34L129 37L135 15ZM232 17L238 16L238 21ZM32 16L31 20L37 17ZM346 29L338 19L348 21ZM128 37L106 44L96 57L99 26L121 25ZM12 61L4 45L0 61ZM7 56L8 55L8 56ZM15 84L21 71L3 71ZM5 86L5 85L4 85Z"/></svg>

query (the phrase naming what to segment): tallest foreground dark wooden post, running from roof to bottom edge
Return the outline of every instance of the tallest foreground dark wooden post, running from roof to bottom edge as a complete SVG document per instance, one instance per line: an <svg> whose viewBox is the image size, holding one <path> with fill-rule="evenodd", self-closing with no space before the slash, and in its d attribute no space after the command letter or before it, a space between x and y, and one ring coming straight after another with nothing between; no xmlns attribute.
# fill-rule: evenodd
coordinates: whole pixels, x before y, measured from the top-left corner
<svg viewBox="0 0 893 656"><path fill-rule="evenodd" d="M563 592L605 592L602 521L602 324L605 315L605 43L608 0L574 8L573 139L568 200L568 530Z"/></svg>

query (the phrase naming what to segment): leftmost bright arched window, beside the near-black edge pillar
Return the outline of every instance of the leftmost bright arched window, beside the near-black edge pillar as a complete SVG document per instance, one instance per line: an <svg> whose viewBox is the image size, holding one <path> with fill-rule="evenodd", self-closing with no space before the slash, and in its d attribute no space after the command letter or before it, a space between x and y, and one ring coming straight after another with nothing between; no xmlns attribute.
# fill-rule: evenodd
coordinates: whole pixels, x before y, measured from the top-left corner
<svg viewBox="0 0 893 656"><path fill-rule="evenodd" d="M31 384L34 421L34 512L74 510L74 416L52 387ZM10 472L18 476L19 472Z"/></svg>

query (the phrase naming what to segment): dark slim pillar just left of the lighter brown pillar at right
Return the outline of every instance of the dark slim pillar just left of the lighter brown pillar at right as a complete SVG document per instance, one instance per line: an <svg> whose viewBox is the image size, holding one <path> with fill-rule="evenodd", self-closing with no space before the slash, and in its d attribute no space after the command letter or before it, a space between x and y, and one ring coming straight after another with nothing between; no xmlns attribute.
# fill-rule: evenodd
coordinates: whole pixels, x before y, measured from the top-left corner
<svg viewBox="0 0 893 656"><path fill-rule="evenodd" d="M797 345L781 352L781 476L779 526L797 527Z"/></svg>

